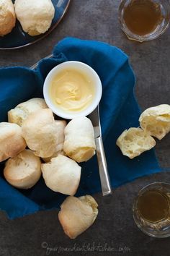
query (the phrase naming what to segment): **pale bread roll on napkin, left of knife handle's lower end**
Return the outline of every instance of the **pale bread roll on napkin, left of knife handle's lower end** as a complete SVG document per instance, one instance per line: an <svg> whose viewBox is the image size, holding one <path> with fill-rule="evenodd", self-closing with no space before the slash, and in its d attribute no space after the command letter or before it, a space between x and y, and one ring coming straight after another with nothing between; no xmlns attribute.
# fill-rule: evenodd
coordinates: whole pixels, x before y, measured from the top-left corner
<svg viewBox="0 0 170 256"><path fill-rule="evenodd" d="M55 192L75 195L79 186L81 167L70 158L58 155L50 163L42 163L45 184Z"/></svg>

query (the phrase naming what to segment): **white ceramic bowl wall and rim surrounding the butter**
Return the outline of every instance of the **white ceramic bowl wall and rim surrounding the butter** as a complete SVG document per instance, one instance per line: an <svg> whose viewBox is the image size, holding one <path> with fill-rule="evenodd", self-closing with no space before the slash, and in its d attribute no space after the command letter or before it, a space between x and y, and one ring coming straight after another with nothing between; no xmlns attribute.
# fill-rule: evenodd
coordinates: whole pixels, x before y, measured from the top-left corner
<svg viewBox="0 0 170 256"><path fill-rule="evenodd" d="M87 108L83 109L82 111L64 111L62 108L56 106L50 98L51 82L53 81L56 74L68 68L73 68L80 72L84 72L84 74L87 75L87 77L90 77L91 81L94 84L95 95L93 101ZM51 71L48 73L48 76L46 77L44 82L43 94L45 102L47 103L48 107L57 116L61 116L64 119L73 119L77 116L88 116L97 107L102 97L102 82L99 79L97 72L95 72L94 69L89 67L87 64L84 64L83 62L79 61L66 61L61 64L58 64L58 66L51 69Z"/></svg>

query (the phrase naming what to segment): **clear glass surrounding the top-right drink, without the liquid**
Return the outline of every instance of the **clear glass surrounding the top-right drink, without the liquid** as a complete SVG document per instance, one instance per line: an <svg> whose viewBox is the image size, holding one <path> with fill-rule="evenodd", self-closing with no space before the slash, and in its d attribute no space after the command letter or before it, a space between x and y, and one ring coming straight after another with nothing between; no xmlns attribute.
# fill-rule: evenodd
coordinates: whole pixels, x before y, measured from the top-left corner
<svg viewBox="0 0 170 256"><path fill-rule="evenodd" d="M145 35L138 35L130 31L128 26L125 24L124 20L124 11L128 5L133 2L133 0L122 0L119 7L119 20L122 31L127 35L128 39L136 40L138 42L143 42L147 40L153 40L162 35L167 28L169 27L170 22L170 4L168 0L152 0L153 3L156 3L160 6L161 10L161 22L156 25L155 29L151 33L146 33Z"/></svg>

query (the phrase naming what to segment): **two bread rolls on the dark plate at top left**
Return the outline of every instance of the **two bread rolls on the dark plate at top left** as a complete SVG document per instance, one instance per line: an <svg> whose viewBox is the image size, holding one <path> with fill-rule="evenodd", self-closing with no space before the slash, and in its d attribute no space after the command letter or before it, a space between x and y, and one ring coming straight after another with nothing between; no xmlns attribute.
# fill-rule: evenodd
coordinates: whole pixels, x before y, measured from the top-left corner
<svg viewBox="0 0 170 256"><path fill-rule="evenodd" d="M50 28L54 14L51 0L0 0L0 35L12 31L16 18L25 33L40 35Z"/></svg>

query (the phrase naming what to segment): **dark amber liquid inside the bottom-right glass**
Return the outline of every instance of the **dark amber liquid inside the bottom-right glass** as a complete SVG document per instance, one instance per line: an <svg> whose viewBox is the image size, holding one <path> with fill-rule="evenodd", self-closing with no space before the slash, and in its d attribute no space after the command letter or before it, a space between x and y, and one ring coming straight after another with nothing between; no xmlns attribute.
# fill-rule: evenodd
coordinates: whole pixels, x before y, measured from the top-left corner
<svg viewBox="0 0 170 256"><path fill-rule="evenodd" d="M169 198L164 192L148 190L138 198L138 211L146 221L162 221L169 218Z"/></svg>

